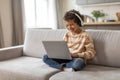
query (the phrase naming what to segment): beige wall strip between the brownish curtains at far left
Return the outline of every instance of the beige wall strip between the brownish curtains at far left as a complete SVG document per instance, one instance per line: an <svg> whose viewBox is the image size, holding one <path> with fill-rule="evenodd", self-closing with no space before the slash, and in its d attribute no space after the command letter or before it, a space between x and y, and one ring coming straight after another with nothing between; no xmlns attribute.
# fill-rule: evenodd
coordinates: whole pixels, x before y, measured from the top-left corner
<svg viewBox="0 0 120 80"><path fill-rule="evenodd" d="M11 46L12 41L12 14L10 2L11 0L0 0L0 16L5 47Z"/></svg>

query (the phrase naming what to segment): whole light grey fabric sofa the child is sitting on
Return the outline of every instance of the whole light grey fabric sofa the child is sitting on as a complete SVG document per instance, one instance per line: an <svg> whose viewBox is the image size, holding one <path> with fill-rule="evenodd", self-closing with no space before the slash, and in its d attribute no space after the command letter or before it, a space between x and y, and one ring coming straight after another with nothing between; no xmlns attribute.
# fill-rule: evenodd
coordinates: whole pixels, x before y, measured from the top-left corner
<svg viewBox="0 0 120 80"><path fill-rule="evenodd" d="M63 40L65 29L27 29L23 45L0 49L0 80L119 80L120 31L86 30L93 38L96 57L81 71L49 67L42 57L42 41Z"/></svg>

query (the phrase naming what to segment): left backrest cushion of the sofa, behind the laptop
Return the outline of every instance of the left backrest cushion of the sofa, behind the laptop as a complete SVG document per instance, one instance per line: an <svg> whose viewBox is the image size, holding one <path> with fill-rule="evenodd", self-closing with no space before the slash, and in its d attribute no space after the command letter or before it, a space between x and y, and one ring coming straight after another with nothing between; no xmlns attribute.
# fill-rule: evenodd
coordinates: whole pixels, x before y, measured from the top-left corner
<svg viewBox="0 0 120 80"><path fill-rule="evenodd" d="M44 40L63 40L65 29L51 30L51 29L27 29L23 55L32 57L42 57L46 52L42 41Z"/></svg>

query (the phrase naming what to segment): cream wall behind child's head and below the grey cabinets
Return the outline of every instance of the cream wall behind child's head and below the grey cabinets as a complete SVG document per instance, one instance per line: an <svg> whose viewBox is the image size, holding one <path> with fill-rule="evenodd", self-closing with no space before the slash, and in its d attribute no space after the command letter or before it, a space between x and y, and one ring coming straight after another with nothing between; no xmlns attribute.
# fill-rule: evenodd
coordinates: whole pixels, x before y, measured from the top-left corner
<svg viewBox="0 0 120 80"><path fill-rule="evenodd" d="M106 17L104 19L114 19L117 20L116 12L120 12L120 4L102 4L102 5L89 5L89 6L80 6L76 5L76 0L60 0L61 8L62 8L62 17L64 16L65 12L71 9L78 10L81 14L91 15L93 10L103 10L106 13ZM65 28L65 24L63 21L63 28Z"/></svg>

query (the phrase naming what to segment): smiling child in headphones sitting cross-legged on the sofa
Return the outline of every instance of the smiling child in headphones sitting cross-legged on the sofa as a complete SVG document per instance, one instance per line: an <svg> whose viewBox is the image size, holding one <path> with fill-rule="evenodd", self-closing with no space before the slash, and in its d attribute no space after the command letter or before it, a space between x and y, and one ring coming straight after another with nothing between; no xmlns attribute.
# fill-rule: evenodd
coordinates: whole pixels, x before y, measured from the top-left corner
<svg viewBox="0 0 120 80"><path fill-rule="evenodd" d="M83 26L83 16L78 11L66 12L64 20L68 30L64 40L67 42L72 60L51 59L45 55L43 61L62 71L65 70L65 67L72 71L79 71L85 67L86 60L95 56L93 40L85 30L80 28Z"/></svg>

